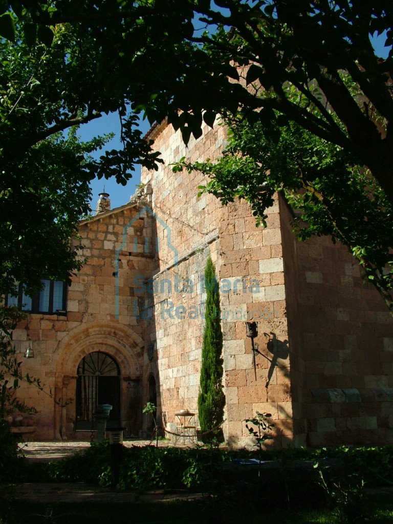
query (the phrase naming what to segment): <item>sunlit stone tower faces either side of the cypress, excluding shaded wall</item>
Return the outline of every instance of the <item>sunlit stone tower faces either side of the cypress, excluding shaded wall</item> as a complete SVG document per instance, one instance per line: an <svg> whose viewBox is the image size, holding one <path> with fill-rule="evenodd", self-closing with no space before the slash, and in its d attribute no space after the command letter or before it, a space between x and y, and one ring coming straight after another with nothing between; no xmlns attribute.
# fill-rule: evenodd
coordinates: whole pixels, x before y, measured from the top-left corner
<svg viewBox="0 0 393 524"><path fill-rule="evenodd" d="M245 419L256 411L272 414L276 444L292 439L289 348L278 204L270 210L266 230L255 226L245 203L221 206L212 195L198 199L201 174L173 173L170 166L185 156L190 160L215 158L225 146L225 131L203 130L188 148L170 126L154 129L150 138L165 160L157 172L143 171L151 184L152 209L157 217L158 267L149 297L154 309L150 340L156 344L161 402L167 429L175 413L196 413L203 334L203 275L208 254L216 265L221 291L224 335L224 433L232 446L253 445ZM165 281L172 282L169 290ZM173 282L180 282L176 289ZM188 289L187 289L188 288ZM201 314L202 312L202 314ZM258 321L259 351L256 375L245 321ZM265 334L264 334L265 333ZM269 348L280 347L272 355Z"/></svg>

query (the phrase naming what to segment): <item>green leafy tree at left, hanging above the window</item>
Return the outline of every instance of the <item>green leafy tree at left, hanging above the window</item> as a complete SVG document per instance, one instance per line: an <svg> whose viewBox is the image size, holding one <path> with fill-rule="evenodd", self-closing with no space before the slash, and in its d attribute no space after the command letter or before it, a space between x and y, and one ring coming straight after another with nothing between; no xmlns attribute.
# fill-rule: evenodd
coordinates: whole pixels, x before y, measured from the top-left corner
<svg viewBox="0 0 393 524"><path fill-rule="evenodd" d="M91 152L110 135L82 143L78 126L104 111L117 109L123 118L124 97L106 95L102 80L93 79L89 39L80 41L71 25L51 28L50 47L39 41L29 45L26 27L15 22L15 42L3 39L0 46L2 294L13 289L14 279L30 293L43 275L68 278L82 264L70 238L89 213L89 182L115 176L125 184L140 156L150 167L158 156L129 114L122 128L124 148L94 160Z"/></svg>

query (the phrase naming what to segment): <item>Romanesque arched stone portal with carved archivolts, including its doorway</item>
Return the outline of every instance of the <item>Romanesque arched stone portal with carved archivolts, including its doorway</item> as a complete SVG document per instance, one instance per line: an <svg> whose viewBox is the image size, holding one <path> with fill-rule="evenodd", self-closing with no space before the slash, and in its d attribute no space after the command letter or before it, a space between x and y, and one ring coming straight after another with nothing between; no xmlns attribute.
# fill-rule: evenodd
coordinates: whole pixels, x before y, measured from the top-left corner
<svg viewBox="0 0 393 524"><path fill-rule="evenodd" d="M143 341L118 323L82 324L59 344L54 434L86 438L97 403L113 406L110 423L141 429Z"/></svg>

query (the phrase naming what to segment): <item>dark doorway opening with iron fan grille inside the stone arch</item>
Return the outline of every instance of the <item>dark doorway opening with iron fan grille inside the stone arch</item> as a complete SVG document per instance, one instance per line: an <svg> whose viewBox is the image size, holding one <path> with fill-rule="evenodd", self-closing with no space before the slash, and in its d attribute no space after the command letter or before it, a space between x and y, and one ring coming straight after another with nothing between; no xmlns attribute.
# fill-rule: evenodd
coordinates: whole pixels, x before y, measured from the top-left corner
<svg viewBox="0 0 393 524"><path fill-rule="evenodd" d="M120 369L107 353L94 351L82 358L77 371L76 430L91 430L97 404L111 404L107 427L121 425Z"/></svg>

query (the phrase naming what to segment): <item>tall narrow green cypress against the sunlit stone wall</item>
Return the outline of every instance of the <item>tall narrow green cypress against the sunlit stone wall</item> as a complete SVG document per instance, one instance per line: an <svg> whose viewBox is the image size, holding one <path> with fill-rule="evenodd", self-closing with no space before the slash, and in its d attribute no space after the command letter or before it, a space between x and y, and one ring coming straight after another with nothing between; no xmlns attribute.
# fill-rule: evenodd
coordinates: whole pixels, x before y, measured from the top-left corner
<svg viewBox="0 0 393 524"><path fill-rule="evenodd" d="M222 387L223 359L221 357L223 336L220 319L219 283L215 267L209 255L205 268L205 326L202 342L202 363L198 414L203 442L221 438L224 420L225 396Z"/></svg>

